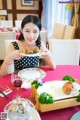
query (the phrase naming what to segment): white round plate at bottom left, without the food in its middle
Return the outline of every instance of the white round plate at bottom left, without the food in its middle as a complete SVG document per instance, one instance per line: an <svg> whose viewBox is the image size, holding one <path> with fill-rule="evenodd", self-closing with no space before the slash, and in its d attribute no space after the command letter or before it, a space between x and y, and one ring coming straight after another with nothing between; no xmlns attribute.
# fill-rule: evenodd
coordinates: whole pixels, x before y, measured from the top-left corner
<svg viewBox="0 0 80 120"><path fill-rule="evenodd" d="M28 118L28 120L41 120L41 118L40 118L40 116L39 116L39 113L37 112L37 110L34 108L34 105L33 105L33 103L30 101L30 100L28 100L28 99L24 99L24 98L20 98L22 101L28 101L29 103L28 104L31 104L31 106L30 106L30 108L28 108L29 110L30 110L30 114L29 114L29 118ZM14 115L13 113L10 113L11 114L11 116L10 116L10 114L9 114L9 110L8 110L8 108L9 108L9 106L12 104L12 103L15 103L16 104L16 100L13 100L13 101L10 101L6 106L5 106L5 108L4 108L4 112L7 112L8 114L8 118L6 119L6 120L23 120L23 117L25 118L26 116L27 116L27 113L25 114L25 115L17 115L16 113L14 113L14 114L16 114L16 115ZM10 119L10 117L11 117L11 119ZM27 119L27 118L25 118L25 119Z"/></svg>

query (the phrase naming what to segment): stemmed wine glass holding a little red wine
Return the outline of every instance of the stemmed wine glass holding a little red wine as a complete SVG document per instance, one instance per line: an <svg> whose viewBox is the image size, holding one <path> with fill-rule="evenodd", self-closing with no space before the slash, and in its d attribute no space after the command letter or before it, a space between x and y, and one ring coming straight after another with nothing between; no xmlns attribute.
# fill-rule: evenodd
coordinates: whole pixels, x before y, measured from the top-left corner
<svg viewBox="0 0 80 120"><path fill-rule="evenodd" d="M15 86L17 94L16 98L19 98L19 88L22 85L22 79L18 76L18 71L15 71L14 73L11 74L11 82Z"/></svg>

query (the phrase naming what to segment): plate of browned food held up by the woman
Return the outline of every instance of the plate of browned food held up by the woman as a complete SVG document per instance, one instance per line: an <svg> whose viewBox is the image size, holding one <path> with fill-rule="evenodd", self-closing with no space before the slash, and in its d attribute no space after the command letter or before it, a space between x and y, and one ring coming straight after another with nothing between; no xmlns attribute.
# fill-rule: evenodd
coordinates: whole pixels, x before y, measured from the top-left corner
<svg viewBox="0 0 80 120"><path fill-rule="evenodd" d="M44 55L46 52L40 50L37 46L35 46L34 48L26 48L24 55L28 56L28 57L35 57L35 56L42 56Z"/></svg>

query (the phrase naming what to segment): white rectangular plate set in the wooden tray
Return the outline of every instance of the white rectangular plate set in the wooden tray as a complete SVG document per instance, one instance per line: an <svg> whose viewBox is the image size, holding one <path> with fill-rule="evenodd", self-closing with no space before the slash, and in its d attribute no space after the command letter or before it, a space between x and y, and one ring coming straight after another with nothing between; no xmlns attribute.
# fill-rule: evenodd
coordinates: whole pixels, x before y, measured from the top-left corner
<svg viewBox="0 0 80 120"><path fill-rule="evenodd" d="M64 98L75 97L79 94L80 85L76 82L73 82L73 90L69 95L63 93L62 87L68 81L57 80L50 81L43 84L37 89L38 94L40 95L43 92L49 93L53 96L54 100L60 100Z"/></svg>

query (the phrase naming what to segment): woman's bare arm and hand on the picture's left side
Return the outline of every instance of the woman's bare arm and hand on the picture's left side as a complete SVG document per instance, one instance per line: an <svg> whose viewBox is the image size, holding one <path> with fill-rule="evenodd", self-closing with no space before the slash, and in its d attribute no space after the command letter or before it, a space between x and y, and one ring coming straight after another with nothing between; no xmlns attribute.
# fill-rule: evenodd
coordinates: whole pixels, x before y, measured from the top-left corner
<svg viewBox="0 0 80 120"><path fill-rule="evenodd" d="M21 54L21 53L22 53L22 51L15 50L12 43L10 43L10 45L9 45L9 47L7 49L6 58L5 58L2 66L0 68L0 75L6 75L6 74L10 73L10 69L12 69L11 66L14 65L14 60L18 60L21 57L23 57L23 54Z"/></svg>

